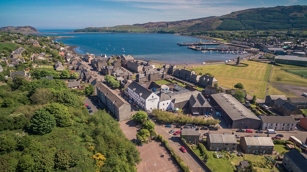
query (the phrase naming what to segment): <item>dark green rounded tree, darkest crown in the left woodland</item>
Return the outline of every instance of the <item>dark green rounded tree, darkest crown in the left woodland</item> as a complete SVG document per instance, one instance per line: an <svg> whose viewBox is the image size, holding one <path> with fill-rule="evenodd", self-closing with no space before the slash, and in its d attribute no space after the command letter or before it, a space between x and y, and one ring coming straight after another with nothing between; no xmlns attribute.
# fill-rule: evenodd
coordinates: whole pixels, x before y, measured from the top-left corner
<svg viewBox="0 0 307 172"><path fill-rule="evenodd" d="M38 108L30 120L29 129L39 134L45 134L51 132L55 126L55 118L47 110Z"/></svg>

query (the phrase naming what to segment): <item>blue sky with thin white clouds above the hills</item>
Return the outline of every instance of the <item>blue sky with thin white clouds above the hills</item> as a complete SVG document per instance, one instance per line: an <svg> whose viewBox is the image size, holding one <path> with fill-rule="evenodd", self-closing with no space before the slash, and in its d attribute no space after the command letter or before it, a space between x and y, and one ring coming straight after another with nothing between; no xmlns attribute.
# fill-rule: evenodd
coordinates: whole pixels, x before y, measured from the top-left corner
<svg viewBox="0 0 307 172"><path fill-rule="evenodd" d="M221 16L307 0L0 0L0 27L77 29Z"/></svg>

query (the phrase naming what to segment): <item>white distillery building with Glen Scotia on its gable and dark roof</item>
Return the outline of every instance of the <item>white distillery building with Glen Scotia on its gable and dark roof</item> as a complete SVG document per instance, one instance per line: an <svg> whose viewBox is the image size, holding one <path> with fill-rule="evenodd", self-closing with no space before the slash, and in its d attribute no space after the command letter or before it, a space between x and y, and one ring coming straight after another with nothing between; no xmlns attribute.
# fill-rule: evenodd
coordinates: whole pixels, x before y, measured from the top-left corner
<svg viewBox="0 0 307 172"><path fill-rule="evenodd" d="M146 111L158 108L160 97L142 85L132 81L127 88L128 97Z"/></svg>

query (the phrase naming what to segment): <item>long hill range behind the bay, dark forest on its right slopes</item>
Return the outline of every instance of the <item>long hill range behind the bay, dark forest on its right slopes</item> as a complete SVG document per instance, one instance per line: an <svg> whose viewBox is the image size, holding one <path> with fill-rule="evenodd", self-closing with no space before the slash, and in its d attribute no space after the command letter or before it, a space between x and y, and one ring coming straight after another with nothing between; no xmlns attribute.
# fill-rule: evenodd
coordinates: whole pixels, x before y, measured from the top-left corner
<svg viewBox="0 0 307 172"><path fill-rule="evenodd" d="M149 22L103 28L77 29L74 32L199 32L205 30L269 30L307 28L307 6L276 6L245 9L220 17L205 17L173 22Z"/></svg>

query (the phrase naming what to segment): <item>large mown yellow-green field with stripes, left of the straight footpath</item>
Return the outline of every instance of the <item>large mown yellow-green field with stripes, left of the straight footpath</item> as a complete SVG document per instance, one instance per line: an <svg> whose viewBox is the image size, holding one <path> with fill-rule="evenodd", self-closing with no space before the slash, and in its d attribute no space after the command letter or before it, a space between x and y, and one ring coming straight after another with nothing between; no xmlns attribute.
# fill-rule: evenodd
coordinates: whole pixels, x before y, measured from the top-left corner
<svg viewBox="0 0 307 172"><path fill-rule="evenodd" d="M270 75L270 64L247 61L247 67L236 67L231 65L208 65L198 66L194 69L195 73L211 73L219 85L232 88L232 84L241 82L249 95L256 95L263 99L265 87ZM201 68L204 68L201 70Z"/></svg>

